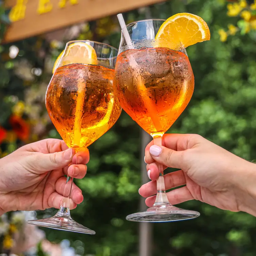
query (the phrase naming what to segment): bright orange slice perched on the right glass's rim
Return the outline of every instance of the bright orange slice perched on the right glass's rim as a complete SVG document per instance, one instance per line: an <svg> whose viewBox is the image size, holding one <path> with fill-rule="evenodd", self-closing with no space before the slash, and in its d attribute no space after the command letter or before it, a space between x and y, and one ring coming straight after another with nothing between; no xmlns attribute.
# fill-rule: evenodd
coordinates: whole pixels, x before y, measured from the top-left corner
<svg viewBox="0 0 256 256"><path fill-rule="evenodd" d="M162 24L155 39L156 47L177 50L210 40L210 30L201 17L190 13L178 13Z"/></svg>

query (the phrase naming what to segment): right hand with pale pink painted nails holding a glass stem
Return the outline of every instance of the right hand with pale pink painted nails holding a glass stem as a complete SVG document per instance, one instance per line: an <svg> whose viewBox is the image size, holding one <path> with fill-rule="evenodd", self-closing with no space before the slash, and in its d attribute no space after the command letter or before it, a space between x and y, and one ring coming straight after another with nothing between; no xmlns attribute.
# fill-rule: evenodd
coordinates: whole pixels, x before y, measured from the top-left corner
<svg viewBox="0 0 256 256"><path fill-rule="evenodd" d="M145 149L148 176L152 180L139 193L151 207L156 199L159 170L156 161L180 169L164 175L171 204L191 199L230 211L256 215L256 164L248 162L196 134L165 134L163 146L150 142Z"/></svg>

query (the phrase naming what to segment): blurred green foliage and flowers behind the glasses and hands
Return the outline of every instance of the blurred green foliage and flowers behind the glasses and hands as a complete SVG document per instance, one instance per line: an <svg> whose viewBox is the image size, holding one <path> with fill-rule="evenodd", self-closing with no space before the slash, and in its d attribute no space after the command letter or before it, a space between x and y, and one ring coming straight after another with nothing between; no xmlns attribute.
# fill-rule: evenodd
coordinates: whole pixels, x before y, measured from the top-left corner
<svg viewBox="0 0 256 256"><path fill-rule="evenodd" d="M192 100L169 132L198 133L247 160L256 159L255 10L255 1L171 0L124 14L126 23L166 19L180 12L207 22L211 40L187 48L195 76ZM7 14L1 5L1 37L8 26ZM46 112L45 92L53 63L71 39L91 39L118 48L118 21L115 16L106 17L0 46L1 157L26 143L60 138ZM84 202L71 216L96 230L95 236L39 229L25 224L35 213L10 212L0 219L0 252L138 256L139 224L125 217L139 210L141 136L141 128L123 111L113 128L89 148L87 175L75 181ZM197 210L201 216L151 224L152 256L256 255L255 217L196 201L179 206ZM37 218L56 211L37 212Z"/></svg>

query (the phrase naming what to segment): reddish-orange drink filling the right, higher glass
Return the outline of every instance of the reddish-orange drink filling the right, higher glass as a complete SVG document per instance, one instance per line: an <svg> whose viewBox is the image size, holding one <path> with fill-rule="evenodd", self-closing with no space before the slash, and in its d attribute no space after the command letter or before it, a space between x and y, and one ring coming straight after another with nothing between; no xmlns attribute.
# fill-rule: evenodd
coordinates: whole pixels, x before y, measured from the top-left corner
<svg viewBox="0 0 256 256"><path fill-rule="evenodd" d="M117 57L114 92L122 108L151 135L172 126L193 91L193 71L183 52L143 48Z"/></svg>

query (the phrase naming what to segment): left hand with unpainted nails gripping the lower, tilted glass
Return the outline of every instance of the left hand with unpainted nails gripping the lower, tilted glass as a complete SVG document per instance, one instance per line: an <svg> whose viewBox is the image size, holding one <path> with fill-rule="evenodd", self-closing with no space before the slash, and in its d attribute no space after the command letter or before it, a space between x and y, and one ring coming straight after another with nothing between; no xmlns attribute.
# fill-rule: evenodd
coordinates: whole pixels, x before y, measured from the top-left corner
<svg viewBox="0 0 256 256"><path fill-rule="evenodd" d="M64 175L83 178L88 161L88 149L76 154L58 139L25 145L0 159L0 215L15 210L59 208L66 184ZM73 184L70 209L82 201L82 191Z"/></svg>

